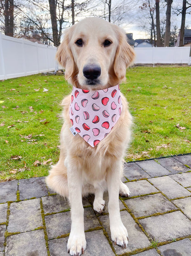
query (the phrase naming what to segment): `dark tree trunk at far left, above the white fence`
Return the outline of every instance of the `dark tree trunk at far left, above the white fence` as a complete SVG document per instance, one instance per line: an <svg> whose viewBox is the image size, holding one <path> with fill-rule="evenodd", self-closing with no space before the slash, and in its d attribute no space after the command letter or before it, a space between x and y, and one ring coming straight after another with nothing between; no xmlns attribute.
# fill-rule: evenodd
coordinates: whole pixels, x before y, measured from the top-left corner
<svg viewBox="0 0 191 256"><path fill-rule="evenodd" d="M14 0L5 0L5 35L13 36L14 27Z"/></svg>

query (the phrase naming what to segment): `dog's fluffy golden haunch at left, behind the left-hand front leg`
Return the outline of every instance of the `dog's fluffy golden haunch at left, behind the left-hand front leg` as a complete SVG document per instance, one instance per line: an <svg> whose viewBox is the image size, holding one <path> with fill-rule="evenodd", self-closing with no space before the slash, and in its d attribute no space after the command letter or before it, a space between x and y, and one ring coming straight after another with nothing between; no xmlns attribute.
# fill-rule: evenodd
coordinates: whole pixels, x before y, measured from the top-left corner
<svg viewBox="0 0 191 256"><path fill-rule="evenodd" d="M64 166L65 156L60 153L60 159L55 166L52 167L49 176L46 177L48 187L61 196L68 197L67 185L67 169Z"/></svg>

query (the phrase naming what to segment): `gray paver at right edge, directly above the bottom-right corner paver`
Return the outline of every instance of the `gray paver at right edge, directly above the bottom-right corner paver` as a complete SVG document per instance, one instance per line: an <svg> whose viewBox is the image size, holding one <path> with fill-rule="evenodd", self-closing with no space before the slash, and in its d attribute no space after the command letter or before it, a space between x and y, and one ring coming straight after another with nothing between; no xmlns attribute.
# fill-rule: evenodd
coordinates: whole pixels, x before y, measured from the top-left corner
<svg viewBox="0 0 191 256"><path fill-rule="evenodd" d="M139 220L146 232L158 242L191 235L191 221L180 211Z"/></svg>

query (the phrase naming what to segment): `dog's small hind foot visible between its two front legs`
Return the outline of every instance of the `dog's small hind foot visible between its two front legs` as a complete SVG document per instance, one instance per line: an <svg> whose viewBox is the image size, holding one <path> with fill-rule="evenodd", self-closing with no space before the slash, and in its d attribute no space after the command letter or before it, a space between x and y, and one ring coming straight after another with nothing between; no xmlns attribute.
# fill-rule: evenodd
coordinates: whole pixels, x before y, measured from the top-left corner
<svg viewBox="0 0 191 256"><path fill-rule="evenodd" d="M95 187L95 199L93 208L96 212L102 213L105 210L105 201L103 200L104 188L102 186Z"/></svg>

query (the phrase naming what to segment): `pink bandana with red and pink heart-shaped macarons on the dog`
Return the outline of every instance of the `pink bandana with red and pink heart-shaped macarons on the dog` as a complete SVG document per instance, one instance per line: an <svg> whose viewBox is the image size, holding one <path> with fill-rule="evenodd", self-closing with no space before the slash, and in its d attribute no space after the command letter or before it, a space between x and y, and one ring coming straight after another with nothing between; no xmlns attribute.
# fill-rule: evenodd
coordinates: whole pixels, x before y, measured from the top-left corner
<svg viewBox="0 0 191 256"><path fill-rule="evenodd" d="M119 85L96 91L73 86L69 108L73 127L70 130L77 131L91 147L95 147L112 130L121 111Z"/></svg>

